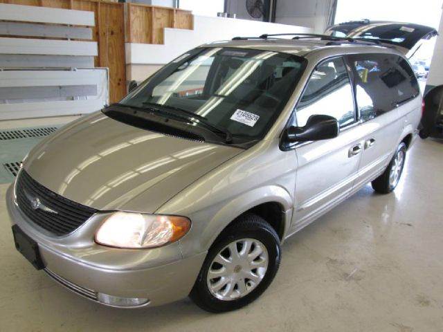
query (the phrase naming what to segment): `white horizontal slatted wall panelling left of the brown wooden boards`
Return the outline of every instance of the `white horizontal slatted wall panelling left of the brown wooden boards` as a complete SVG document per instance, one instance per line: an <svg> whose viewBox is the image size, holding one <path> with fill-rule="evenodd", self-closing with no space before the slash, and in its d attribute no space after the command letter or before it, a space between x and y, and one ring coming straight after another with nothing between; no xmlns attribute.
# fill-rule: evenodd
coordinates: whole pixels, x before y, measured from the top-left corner
<svg viewBox="0 0 443 332"><path fill-rule="evenodd" d="M95 25L91 11L0 3L0 120L90 113L107 104L107 68L94 68Z"/></svg>

